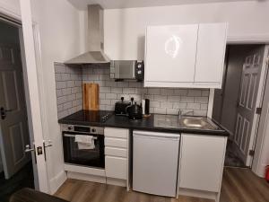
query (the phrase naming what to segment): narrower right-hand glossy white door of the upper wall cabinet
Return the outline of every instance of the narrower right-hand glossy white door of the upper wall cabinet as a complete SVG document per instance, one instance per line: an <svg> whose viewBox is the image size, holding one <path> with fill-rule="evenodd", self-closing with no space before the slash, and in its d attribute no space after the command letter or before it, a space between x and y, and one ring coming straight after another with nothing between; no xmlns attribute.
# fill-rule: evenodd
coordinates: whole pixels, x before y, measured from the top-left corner
<svg viewBox="0 0 269 202"><path fill-rule="evenodd" d="M227 23L199 24L195 83L219 83L221 87Z"/></svg>

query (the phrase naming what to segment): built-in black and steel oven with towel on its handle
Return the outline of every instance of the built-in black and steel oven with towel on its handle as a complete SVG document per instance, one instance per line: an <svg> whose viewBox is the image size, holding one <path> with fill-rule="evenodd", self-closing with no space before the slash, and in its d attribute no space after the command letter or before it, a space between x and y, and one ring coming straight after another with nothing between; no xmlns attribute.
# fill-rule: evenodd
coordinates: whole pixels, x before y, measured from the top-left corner
<svg viewBox="0 0 269 202"><path fill-rule="evenodd" d="M62 125L65 163L105 168L104 128ZM91 136L91 148L81 148L76 136Z"/></svg>

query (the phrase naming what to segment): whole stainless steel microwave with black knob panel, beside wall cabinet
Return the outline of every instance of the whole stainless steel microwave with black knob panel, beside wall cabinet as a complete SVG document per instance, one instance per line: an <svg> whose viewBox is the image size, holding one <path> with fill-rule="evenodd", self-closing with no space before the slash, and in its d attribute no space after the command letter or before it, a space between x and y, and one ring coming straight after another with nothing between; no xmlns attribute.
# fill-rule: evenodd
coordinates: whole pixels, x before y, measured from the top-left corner
<svg viewBox="0 0 269 202"><path fill-rule="evenodd" d="M110 78L115 80L143 81L143 61L137 60L111 60Z"/></svg>

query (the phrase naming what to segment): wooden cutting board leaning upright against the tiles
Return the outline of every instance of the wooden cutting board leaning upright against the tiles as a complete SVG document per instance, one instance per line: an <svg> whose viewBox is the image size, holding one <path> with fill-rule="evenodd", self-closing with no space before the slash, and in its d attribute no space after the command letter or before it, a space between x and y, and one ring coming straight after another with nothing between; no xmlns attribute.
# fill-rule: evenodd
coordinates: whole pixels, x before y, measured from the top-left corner
<svg viewBox="0 0 269 202"><path fill-rule="evenodd" d="M83 110L99 110L99 84L83 83Z"/></svg>

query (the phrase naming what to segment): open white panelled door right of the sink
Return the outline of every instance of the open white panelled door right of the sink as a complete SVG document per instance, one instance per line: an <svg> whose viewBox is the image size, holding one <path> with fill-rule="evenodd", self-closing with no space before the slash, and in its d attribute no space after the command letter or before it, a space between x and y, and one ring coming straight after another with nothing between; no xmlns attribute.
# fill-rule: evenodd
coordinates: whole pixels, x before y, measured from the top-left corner
<svg viewBox="0 0 269 202"><path fill-rule="evenodd" d="M239 148L239 155L247 166L250 165L249 150L252 147L251 136L255 133L256 99L259 88L263 54L259 51L246 58L241 76L239 106L234 141Z"/></svg>

